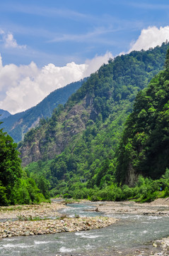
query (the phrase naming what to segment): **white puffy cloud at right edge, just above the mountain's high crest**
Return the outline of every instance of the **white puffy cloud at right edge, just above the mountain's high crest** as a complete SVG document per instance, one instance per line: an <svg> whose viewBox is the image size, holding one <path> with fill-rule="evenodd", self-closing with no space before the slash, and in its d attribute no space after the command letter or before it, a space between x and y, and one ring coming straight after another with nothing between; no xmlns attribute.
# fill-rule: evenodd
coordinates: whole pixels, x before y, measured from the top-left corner
<svg viewBox="0 0 169 256"><path fill-rule="evenodd" d="M141 31L139 38L136 42L132 43L132 50L148 50L156 46L161 46L163 42L169 40L169 26L157 28L156 26L149 26Z"/></svg>

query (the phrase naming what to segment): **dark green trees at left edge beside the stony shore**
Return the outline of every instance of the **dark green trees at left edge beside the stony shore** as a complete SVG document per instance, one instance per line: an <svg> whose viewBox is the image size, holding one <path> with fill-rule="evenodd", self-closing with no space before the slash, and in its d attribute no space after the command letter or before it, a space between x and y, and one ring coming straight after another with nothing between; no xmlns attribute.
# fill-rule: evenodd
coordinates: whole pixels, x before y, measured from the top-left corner
<svg viewBox="0 0 169 256"><path fill-rule="evenodd" d="M13 139L0 129L0 206L45 201L49 193L43 195L35 180L28 178L23 171L16 146Z"/></svg>

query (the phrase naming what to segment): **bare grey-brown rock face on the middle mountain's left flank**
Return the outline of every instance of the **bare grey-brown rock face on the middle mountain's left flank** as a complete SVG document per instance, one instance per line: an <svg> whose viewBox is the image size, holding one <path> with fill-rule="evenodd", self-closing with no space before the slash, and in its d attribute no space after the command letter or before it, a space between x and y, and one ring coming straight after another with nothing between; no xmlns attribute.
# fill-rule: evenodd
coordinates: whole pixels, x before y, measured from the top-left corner
<svg viewBox="0 0 169 256"><path fill-rule="evenodd" d="M40 159L53 159L56 154L61 154L73 137L80 136L86 129L91 112L92 99L85 97L71 109L67 107L59 117L53 117L52 124L47 123L37 129L33 137L19 149L23 166Z"/></svg>

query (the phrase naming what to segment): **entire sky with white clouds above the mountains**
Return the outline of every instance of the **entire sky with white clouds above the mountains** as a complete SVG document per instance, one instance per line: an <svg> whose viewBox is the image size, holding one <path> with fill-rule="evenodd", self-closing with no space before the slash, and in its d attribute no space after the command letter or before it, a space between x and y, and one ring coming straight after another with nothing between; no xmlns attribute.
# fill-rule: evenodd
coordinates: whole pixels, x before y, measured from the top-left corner
<svg viewBox="0 0 169 256"><path fill-rule="evenodd" d="M0 108L27 110L109 58L167 39L168 0L0 1Z"/></svg>

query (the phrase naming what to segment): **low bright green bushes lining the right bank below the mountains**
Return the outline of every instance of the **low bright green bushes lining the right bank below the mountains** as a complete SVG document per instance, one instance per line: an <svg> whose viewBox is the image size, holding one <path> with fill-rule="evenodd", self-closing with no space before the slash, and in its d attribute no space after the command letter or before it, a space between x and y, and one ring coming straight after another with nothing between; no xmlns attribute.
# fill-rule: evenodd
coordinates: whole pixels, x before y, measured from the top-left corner
<svg viewBox="0 0 169 256"><path fill-rule="evenodd" d="M65 191L65 187L63 188ZM162 191L161 191L162 189ZM62 188L60 188L62 191ZM68 191L68 190L67 190ZM151 202L156 198L165 198L169 196L169 179L161 178L153 181L150 178L139 176L138 182L134 188L127 185L119 186L113 182L109 185L105 184L103 188L94 186L86 188L81 183L76 183L76 186L69 187L69 193L64 194L65 198L86 198L91 201L127 201L136 202Z"/></svg>

